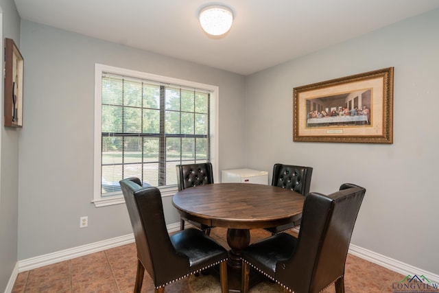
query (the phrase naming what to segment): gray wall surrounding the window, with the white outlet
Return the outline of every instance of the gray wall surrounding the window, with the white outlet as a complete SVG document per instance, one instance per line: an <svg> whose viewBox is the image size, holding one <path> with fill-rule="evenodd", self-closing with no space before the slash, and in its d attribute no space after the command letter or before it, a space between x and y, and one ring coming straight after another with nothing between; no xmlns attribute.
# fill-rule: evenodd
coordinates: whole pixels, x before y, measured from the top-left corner
<svg viewBox="0 0 439 293"><path fill-rule="evenodd" d="M21 23L21 53L19 259L132 233L124 204L91 203L95 63L219 86L219 169L245 164L242 75L28 21ZM178 222L170 200L164 198L167 224ZM79 228L82 215L88 228Z"/></svg>

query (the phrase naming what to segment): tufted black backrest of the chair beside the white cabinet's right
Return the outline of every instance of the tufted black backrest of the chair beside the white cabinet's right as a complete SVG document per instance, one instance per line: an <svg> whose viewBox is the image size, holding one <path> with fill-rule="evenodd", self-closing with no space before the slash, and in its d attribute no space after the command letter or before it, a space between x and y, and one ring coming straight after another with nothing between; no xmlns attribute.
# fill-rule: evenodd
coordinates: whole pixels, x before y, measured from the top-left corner
<svg viewBox="0 0 439 293"><path fill-rule="evenodd" d="M305 196L309 192L312 174L312 167L274 164L272 186L291 189Z"/></svg>

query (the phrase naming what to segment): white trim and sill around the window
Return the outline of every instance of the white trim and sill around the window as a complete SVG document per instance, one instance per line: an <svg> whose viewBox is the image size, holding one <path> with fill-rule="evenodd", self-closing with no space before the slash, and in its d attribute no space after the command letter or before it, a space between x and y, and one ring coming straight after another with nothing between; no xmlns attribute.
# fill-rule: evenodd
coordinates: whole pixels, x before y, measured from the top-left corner
<svg viewBox="0 0 439 293"><path fill-rule="evenodd" d="M130 69L123 69L119 67L112 67L108 65L95 64L95 144L94 144L94 158L93 158L93 200L95 207L106 207L114 204L125 203L121 192L109 198L102 198L101 196L101 156L102 156L102 72L115 73L119 75L127 75L134 78L142 78L146 80L154 80L156 82L163 82L169 84L179 84L181 86L189 86L197 89L206 89L211 91L211 163L213 166L214 182L218 180L218 109L219 109L219 87L210 84L201 84L198 82L191 82L188 80L180 80L176 78L169 78L162 75L155 75L151 73L144 73L141 71L134 71ZM177 187L161 187L162 197L173 196Z"/></svg>

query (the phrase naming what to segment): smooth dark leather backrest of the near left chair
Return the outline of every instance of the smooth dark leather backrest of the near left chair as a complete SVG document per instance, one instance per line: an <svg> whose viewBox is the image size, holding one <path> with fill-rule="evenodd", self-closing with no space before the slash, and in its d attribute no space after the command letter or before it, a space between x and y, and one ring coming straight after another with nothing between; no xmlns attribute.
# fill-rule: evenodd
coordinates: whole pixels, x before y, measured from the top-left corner
<svg viewBox="0 0 439 293"><path fill-rule="evenodd" d="M167 232L161 193L156 187L141 187L139 178L120 181L125 198L137 257L150 274L155 285L181 277L189 271L189 259L177 255Z"/></svg>

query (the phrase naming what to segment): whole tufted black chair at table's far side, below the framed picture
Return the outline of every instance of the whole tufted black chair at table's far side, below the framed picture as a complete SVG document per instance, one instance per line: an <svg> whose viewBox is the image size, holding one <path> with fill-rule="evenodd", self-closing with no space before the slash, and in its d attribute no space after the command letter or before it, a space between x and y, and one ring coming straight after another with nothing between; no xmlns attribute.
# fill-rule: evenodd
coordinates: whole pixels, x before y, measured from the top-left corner
<svg viewBox="0 0 439 293"><path fill-rule="evenodd" d="M272 186L291 189L292 191L296 191L299 194L306 196L309 192L309 186L311 185L312 174L312 167L274 164ZM302 215L300 214L297 215L289 224L265 228L265 230L272 233L272 235L282 233L284 231L294 228L295 226L300 225L301 218Z"/></svg>

